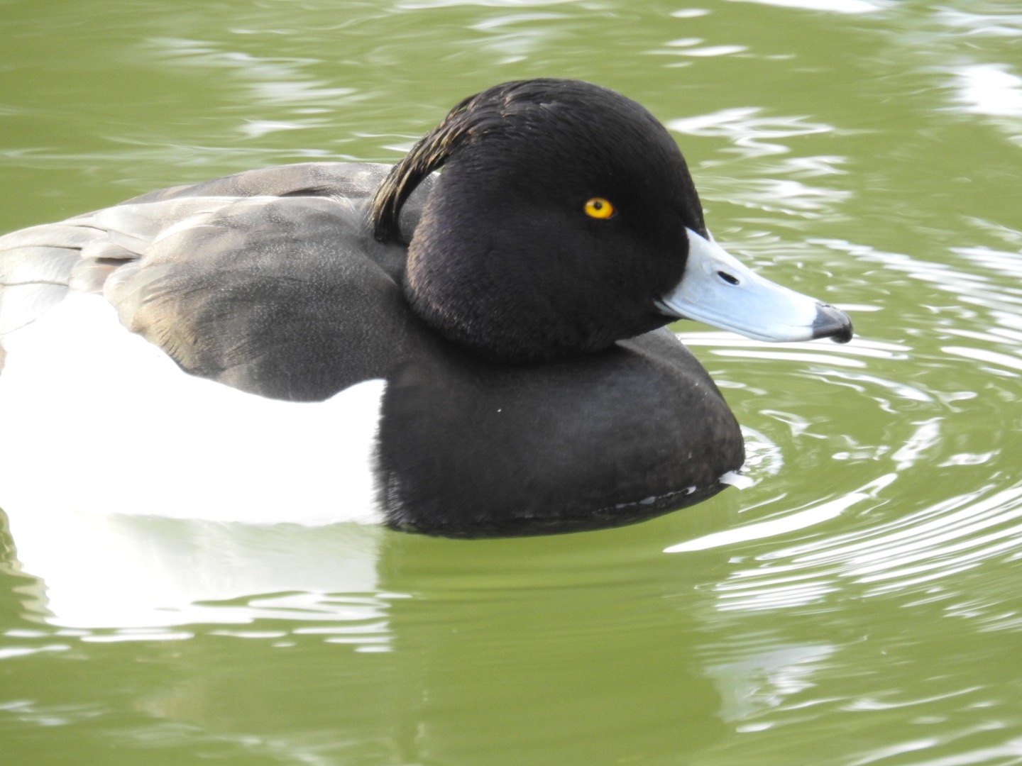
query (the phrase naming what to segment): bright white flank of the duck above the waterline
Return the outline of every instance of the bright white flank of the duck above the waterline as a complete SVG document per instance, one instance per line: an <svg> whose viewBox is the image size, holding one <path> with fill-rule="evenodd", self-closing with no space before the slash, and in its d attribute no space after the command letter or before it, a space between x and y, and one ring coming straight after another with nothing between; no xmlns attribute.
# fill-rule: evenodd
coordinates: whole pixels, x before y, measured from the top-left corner
<svg viewBox="0 0 1022 766"><path fill-rule="evenodd" d="M257 524L379 522L384 382L286 402L187 375L102 297L4 339L0 508Z"/></svg>

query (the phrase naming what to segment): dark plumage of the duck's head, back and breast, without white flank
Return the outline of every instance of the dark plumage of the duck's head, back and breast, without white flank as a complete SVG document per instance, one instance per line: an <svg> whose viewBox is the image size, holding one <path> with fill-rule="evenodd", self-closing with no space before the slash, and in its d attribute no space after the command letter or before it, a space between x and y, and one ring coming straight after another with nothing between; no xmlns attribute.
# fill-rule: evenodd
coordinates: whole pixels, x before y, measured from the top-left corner
<svg viewBox="0 0 1022 766"><path fill-rule="evenodd" d="M613 214L587 214L594 198ZM703 499L744 461L719 391L662 329L706 237L642 106L505 83L389 170L249 171L0 238L0 353L66 294L102 293L184 371L244 391L317 401L384 379L393 527L613 526ZM822 308L819 335L850 337Z"/></svg>

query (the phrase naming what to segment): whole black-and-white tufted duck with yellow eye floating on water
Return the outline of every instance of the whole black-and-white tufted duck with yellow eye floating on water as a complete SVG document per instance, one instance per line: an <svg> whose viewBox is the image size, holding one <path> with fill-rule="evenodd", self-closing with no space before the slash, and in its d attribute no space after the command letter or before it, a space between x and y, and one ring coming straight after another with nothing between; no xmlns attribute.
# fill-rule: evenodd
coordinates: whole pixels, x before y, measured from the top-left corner
<svg viewBox="0 0 1022 766"><path fill-rule="evenodd" d="M12 530L54 508L451 537L650 519L745 461L680 320L852 335L714 241L638 102L503 83L392 166L250 170L0 237L0 508Z"/></svg>

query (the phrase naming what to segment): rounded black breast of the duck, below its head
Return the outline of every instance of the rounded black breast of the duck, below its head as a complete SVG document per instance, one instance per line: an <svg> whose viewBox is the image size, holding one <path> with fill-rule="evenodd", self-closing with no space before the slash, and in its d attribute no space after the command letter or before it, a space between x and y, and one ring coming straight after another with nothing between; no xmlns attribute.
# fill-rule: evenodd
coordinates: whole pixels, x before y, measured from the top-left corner
<svg viewBox="0 0 1022 766"><path fill-rule="evenodd" d="M431 356L406 363L384 396L391 526L481 536L625 524L704 499L744 462L719 391L665 330L541 366Z"/></svg>

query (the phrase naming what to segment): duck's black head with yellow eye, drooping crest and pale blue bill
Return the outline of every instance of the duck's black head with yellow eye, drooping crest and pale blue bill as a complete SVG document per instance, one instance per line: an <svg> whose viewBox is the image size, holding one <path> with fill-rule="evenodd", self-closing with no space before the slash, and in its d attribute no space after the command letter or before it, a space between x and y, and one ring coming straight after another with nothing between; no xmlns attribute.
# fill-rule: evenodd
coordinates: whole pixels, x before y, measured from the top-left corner
<svg viewBox="0 0 1022 766"><path fill-rule="evenodd" d="M400 237L402 206L442 165L404 289L429 325L476 353L598 351L681 318L761 340L851 337L843 312L712 241L670 135L611 90L528 80L465 99L380 185L377 239Z"/></svg>

